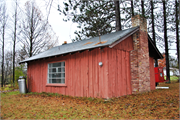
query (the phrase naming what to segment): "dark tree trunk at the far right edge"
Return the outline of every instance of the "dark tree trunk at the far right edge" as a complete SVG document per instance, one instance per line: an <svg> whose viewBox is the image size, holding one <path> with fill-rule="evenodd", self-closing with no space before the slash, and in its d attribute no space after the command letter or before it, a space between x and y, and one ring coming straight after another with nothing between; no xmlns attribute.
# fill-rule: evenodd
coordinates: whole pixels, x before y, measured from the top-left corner
<svg viewBox="0 0 180 120"><path fill-rule="evenodd" d="M179 19L178 19L178 1L175 0L176 7L176 46L177 46L177 59L179 64Z"/></svg>

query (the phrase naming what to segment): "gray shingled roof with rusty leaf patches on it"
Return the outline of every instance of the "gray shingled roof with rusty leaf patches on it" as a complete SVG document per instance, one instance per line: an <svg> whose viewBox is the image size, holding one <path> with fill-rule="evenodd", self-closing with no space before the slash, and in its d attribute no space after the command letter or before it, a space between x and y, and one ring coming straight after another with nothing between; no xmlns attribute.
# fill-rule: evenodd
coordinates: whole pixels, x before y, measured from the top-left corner
<svg viewBox="0 0 180 120"><path fill-rule="evenodd" d="M103 47L103 46L110 46L118 40L120 41L124 40L123 39L124 37L132 35L132 33L134 33L134 31L138 29L139 27L133 27L130 29L125 29L122 31L117 31L114 33L102 35L101 42L103 42L103 44L97 44L99 42L99 37L94 37L87 40L82 40L82 41L78 41L74 43L68 43L68 44L57 46L57 47L53 47L47 51L44 51L26 60L23 60L20 63L37 60L41 58L52 57L56 55L72 53L72 52L81 51L81 50L87 50L87 49Z"/></svg>

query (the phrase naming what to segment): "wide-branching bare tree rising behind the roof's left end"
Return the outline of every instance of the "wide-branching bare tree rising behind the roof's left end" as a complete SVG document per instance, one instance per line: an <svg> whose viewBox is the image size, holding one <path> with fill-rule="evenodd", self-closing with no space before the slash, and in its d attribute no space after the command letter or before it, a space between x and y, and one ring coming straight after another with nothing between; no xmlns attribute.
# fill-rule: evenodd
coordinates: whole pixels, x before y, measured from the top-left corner
<svg viewBox="0 0 180 120"><path fill-rule="evenodd" d="M26 2L25 18L21 27L21 42L29 57L54 46L57 37L35 2ZM54 41L54 40L56 41Z"/></svg>

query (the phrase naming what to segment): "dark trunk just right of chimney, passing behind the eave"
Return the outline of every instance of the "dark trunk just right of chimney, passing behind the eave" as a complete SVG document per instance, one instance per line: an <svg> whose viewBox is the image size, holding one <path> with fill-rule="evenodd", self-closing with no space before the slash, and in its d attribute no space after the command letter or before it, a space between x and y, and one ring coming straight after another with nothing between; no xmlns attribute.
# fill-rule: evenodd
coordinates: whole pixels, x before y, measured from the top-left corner
<svg viewBox="0 0 180 120"><path fill-rule="evenodd" d="M152 20L152 35L153 35L153 41L156 45L156 34L155 34L155 28L154 28L154 4L153 0L150 1L151 4L151 20ZM158 60L155 59L155 67L158 67Z"/></svg>

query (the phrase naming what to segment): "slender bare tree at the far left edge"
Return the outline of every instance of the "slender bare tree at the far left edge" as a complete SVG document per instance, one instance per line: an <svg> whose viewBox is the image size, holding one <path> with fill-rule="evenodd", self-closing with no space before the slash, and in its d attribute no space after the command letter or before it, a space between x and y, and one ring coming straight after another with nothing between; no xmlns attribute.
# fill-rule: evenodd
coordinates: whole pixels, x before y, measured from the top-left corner
<svg viewBox="0 0 180 120"><path fill-rule="evenodd" d="M5 29L6 29L6 23L7 23L7 13L6 13L6 4L5 2L3 2L3 4L1 4L1 10L0 10L0 16L1 16L1 20L0 20L0 34L2 35L2 64L1 64L1 74L2 74L2 78L1 78L1 87L3 87L3 83L4 83L4 41L5 41Z"/></svg>

